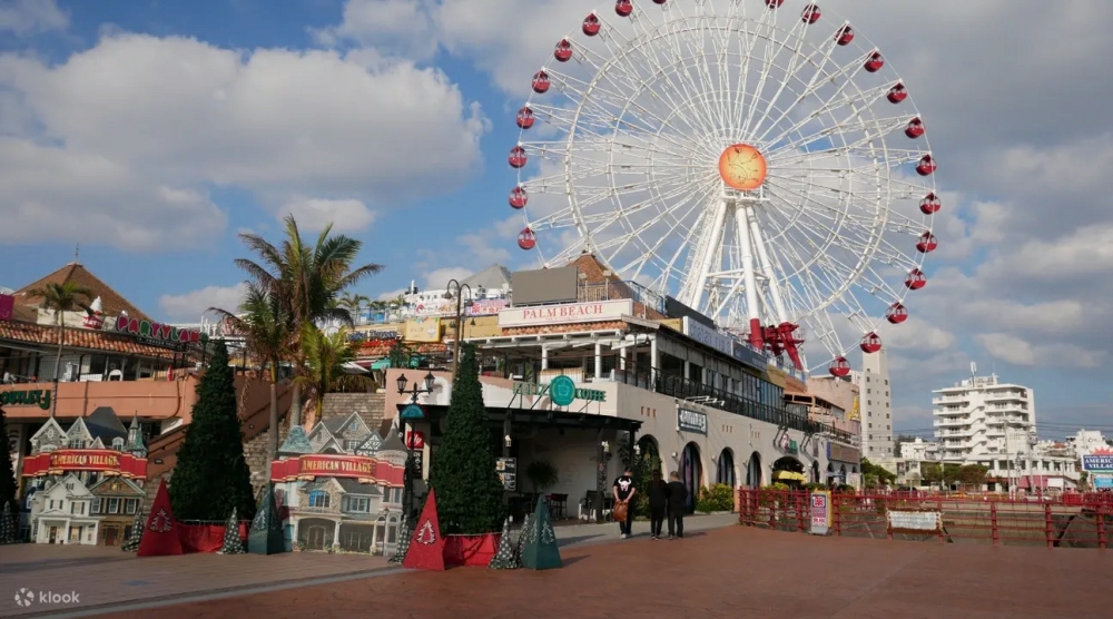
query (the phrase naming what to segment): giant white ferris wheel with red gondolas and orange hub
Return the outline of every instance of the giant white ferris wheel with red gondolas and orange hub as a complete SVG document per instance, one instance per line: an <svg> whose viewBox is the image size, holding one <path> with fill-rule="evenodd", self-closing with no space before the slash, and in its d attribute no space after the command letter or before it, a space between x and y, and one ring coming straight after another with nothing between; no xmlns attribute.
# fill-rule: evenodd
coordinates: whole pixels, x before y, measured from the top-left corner
<svg viewBox="0 0 1113 619"><path fill-rule="evenodd" d="M800 370L807 333L836 376L927 284L924 120L817 3L618 0L555 41L532 91L509 202L545 265L590 252Z"/></svg>

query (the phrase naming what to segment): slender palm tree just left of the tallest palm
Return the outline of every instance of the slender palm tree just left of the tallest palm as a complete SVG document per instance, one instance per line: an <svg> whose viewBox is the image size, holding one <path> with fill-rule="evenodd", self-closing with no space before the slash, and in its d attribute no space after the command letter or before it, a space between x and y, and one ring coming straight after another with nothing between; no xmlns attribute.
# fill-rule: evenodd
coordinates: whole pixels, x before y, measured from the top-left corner
<svg viewBox="0 0 1113 619"><path fill-rule="evenodd" d="M270 460L278 455L278 367L289 356L289 320L278 297L257 283L248 283L239 304L239 314L209 307L244 336L247 350L270 374Z"/></svg>

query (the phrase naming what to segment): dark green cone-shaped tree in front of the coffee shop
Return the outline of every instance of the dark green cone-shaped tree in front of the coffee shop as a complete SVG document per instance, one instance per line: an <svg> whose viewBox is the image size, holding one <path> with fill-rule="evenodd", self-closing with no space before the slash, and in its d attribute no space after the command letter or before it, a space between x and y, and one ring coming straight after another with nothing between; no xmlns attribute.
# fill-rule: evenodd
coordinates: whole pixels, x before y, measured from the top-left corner
<svg viewBox="0 0 1113 619"><path fill-rule="evenodd" d="M486 428L475 346L461 345L460 357L444 438L430 471L430 485L436 491L442 533L493 533L502 525L505 507L502 483L494 469L492 434Z"/></svg>

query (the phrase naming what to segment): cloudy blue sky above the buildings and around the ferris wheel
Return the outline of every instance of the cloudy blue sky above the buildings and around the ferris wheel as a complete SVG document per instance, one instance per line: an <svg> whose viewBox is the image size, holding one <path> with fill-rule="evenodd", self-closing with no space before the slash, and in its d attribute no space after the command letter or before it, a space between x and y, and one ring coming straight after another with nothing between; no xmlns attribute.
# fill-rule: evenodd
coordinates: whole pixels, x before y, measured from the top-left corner
<svg viewBox="0 0 1113 619"><path fill-rule="evenodd" d="M0 0L0 286L79 245L145 312L196 322L238 302L237 235L290 213L363 240L372 297L532 266L513 115L609 4ZM930 390L973 361L1035 389L1041 435L1113 431L1113 3L820 6L884 51L940 161L928 286L883 333L896 430L925 434Z"/></svg>

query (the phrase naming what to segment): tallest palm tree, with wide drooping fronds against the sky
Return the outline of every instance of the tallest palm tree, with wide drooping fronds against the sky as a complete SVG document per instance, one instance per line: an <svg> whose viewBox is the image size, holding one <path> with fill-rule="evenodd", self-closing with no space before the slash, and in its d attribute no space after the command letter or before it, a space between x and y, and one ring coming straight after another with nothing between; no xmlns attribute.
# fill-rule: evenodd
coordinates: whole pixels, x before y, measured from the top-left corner
<svg viewBox="0 0 1113 619"><path fill-rule="evenodd" d="M329 320L339 320L351 325L352 314L348 310L338 307L333 302L341 292L364 277L378 273L383 267L365 264L353 268L363 243L345 235L331 236L332 224L325 226L316 245L311 246L302 238L293 215L287 215L284 220L286 238L279 246L272 245L256 234L240 234L240 240L256 254L258 262L237 258L236 265L247 272L250 282L268 291L283 305L283 314L294 340L290 342L288 358L297 374L305 365L305 353L301 346L305 327L315 325L317 321ZM290 405L292 425L301 423L299 387L295 382Z"/></svg>

